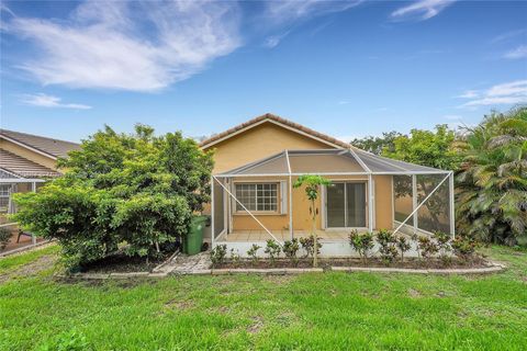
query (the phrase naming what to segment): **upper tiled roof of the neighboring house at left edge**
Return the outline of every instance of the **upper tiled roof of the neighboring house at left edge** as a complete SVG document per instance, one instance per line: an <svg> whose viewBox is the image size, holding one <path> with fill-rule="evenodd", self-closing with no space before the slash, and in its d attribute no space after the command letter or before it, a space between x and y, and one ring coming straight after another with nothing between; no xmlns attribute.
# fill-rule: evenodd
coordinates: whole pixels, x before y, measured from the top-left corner
<svg viewBox="0 0 527 351"><path fill-rule="evenodd" d="M47 156L52 159L66 157L69 151L80 148L80 145L76 143L58 140L44 136L13 132L8 129L0 129L0 138L25 147L37 154Z"/></svg>

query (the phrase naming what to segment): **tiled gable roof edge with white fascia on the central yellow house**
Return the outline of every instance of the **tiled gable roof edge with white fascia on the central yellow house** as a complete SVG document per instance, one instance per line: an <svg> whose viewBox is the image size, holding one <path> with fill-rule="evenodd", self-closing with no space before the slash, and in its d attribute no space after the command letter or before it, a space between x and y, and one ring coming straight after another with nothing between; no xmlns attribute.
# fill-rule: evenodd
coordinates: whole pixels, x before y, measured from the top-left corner
<svg viewBox="0 0 527 351"><path fill-rule="evenodd" d="M240 129L250 127L251 125L257 124L257 123L259 123L259 122L262 122L262 121L265 121L265 120L270 120L270 121L273 121L273 122L277 122L277 123L284 124L284 125L287 125L287 126L289 126L289 127L292 127L292 128L295 128L295 129L298 129L298 131L300 131L300 132L306 133L306 134L309 134L309 135L311 135L311 136L313 136L313 137L323 139L323 140L325 140L326 143L330 143L330 144L333 144L333 145L336 145L336 146L339 146L339 147L343 147L343 148L349 148L349 144L347 144L347 143L344 143L344 141L341 141L341 140L337 139L337 138L334 138L334 137L332 137L332 136L329 136L329 135L327 135L327 134L316 132L316 131L314 131L314 129L312 129L312 128L310 128L310 127L306 127L306 126L304 126L304 125L302 125L302 124L299 124L299 123L293 122L293 121L291 121L291 120L283 118L283 117L279 116L279 115L276 115L276 114L269 113L269 112L268 112L268 113L265 113L265 114L262 114L262 115L259 115L259 116L257 116L257 117L250 118L250 120L248 120L248 121L246 121L246 122L244 122L244 123L242 123L242 124L238 124L238 125L236 125L236 126L234 126L234 127L232 127L232 128L228 128L228 129L226 129L226 131L224 131L224 132L221 132L221 133L218 133L218 134L216 134L216 135L213 135L213 136L211 136L210 138L206 138L205 140L201 141L201 143L200 143L200 146L201 146L201 147L205 147L208 144L217 141L217 140L224 138L224 137L227 137L227 136L231 135L231 134L234 134L234 133L236 133L236 132L238 132L238 131L240 131Z"/></svg>

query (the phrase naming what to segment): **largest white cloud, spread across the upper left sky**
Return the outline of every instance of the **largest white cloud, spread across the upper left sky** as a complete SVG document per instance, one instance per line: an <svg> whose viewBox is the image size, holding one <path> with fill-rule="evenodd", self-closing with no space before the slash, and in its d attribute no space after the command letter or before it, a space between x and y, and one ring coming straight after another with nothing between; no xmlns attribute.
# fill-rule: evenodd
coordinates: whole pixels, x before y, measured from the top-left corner
<svg viewBox="0 0 527 351"><path fill-rule="evenodd" d="M36 45L20 65L44 84L155 91L240 45L233 2L87 1L67 21L15 18L5 30Z"/></svg>

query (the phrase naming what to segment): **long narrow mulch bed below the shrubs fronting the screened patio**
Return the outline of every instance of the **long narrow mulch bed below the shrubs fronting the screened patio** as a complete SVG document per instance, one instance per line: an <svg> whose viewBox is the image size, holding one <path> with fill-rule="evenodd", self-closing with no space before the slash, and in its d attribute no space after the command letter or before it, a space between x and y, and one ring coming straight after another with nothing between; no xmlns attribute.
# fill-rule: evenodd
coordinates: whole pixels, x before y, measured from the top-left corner
<svg viewBox="0 0 527 351"><path fill-rule="evenodd" d="M299 259L298 262L291 260L277 259L273 264L268 259L260 259L257 262L248 260L242 260L239 262L233 262L226 260L221 264L216 264L215 269L268 269L268 268L312 268L312 259ZM366 267L366 268L402 268L402 269L471 269L471 268L484 268L489 267L489 262L482 257L474 257L470 261L460 260L458 258L451 258L449 262L444 262L440 259L417 259L405 258L404 263L395 261L390 264L385 264L378 258L368 259L365 264L362 260L358 258L344 258L344 259L319 259L319 268L326 267Z"/></svg>

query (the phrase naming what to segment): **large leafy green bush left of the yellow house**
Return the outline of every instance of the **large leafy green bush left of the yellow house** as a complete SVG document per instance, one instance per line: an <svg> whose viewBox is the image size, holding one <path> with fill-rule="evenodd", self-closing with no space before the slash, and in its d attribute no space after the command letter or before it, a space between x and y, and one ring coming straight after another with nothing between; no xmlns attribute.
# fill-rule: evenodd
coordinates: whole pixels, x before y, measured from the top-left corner
<svg viewBox="0 0 527 351"><path fill-rule="evenodd" d="M110 127L59 160L63 178L37 193L16 194L23 227L57 239L69 264L106 257L122 246L130 256L153 257L189 227L209 201L212 155L180 133L154 136Z"/></svg>

